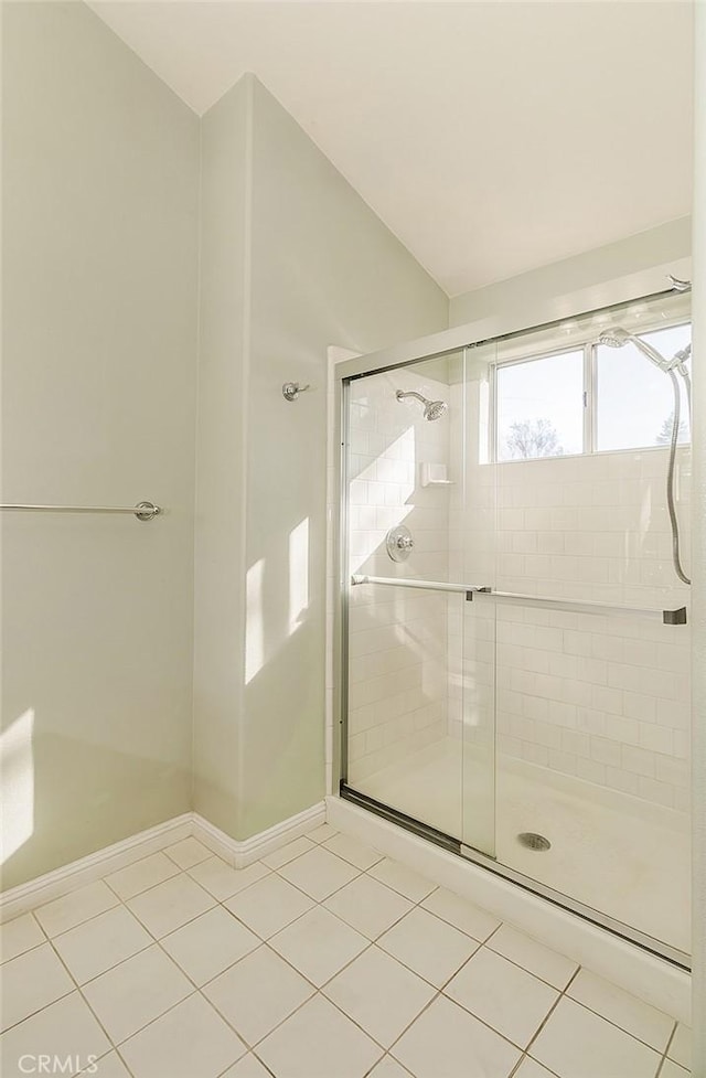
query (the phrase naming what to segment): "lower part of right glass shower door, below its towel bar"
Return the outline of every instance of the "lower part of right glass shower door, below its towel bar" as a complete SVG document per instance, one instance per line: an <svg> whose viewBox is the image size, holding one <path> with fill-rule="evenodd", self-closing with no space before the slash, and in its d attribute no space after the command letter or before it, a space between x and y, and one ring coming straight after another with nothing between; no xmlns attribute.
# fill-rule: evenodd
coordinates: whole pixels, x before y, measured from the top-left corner
<svg viewBox="0 0 706 1078"><path fill-rule="evenodd" d="M498 858L687 954L688 626L516 612L500 627Z"/></svg>

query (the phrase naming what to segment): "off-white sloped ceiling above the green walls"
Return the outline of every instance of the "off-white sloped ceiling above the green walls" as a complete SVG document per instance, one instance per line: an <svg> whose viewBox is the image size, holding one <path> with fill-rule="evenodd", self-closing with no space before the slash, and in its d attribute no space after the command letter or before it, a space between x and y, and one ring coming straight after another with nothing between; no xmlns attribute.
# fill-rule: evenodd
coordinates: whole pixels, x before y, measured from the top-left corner
<svg viewBox="0 0 706 1078"><path fill-rule="evenodd" d="M686 0L90 7L196 113L255 72L450 296L691 211Z"/></svg>

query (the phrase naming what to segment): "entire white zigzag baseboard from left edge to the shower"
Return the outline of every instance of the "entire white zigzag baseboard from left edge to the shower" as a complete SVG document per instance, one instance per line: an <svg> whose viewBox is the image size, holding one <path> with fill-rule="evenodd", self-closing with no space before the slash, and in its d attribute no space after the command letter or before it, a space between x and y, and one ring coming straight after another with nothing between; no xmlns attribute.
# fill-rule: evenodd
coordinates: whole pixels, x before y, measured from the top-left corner
<svg viewBox="0 0 706 1078"><path fill-rule="evenodd" d="M116 842L111 846L105 846L95 853L74 861L53 872L47 872L36 879L31 879L19 887L12 887L0 894L0 921L11 920L28 910L36 909L45 903L51 903L54 898L60 898L85 884L90 884L95 879L107 876L108 873L117 872L142 857L148 857L152 853L158 853L165 846L171 846L181 839L190 835L199 839L200 842L213 850L214 853L227 861L235 868L245 868L259 857L271 853L287 842L304 834L307 831L325 821L325 802L319 801L318 804L297 815L282 820L267 831L253 835L243 842L232 839L224 831L220 831L203 816L195 812L184 812L183 815L174 816L160 823L156 828L140 831L138 834L130 835L121 842Z"/></svg>

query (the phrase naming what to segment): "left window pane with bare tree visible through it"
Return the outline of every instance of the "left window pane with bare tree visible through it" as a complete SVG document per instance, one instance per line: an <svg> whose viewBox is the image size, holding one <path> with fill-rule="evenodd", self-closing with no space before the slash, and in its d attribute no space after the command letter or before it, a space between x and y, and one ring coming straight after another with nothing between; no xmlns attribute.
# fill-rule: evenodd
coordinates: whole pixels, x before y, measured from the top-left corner
<svg viewBox="0 0 706 1078"><path fill-rule="evenodd" d="M495 373L498 460L584 449L584 350L507 363Z"/></svg>

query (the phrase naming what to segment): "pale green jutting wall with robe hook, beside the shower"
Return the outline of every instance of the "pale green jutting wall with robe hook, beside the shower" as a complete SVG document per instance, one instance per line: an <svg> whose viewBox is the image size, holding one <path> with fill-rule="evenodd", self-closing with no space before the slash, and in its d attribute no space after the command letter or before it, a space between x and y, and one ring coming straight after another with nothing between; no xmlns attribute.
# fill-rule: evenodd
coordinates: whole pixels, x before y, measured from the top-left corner
<svg viewBox="0 0 706 1078"><path fill-rule="evenodd" d="M217 256L204 225L202 372L204 334L222 342L226 366L231 340L229 362L243 354L245 371L237 392L220 401L221 435L206 433L212 409L200 397L197 551L217 527L217 493L240 503L245 531L214 548L208 564L205 553L196 557L196 685L215 638L224 632L229 644L207 706L196 695L196 741L225 745L226 754L203 755L195 804L246 837L324 792L327 348L368 352L442 329L448 301L257 79L246 76L227 97L234 109L236 97L244 100L247 115L244 127L234 120L221 135L212 114L225 103L204 118L204 222L210 213L244 222L232 234L246 257L249 250L252 280L238 338L232 311L210 306L208 289L218 286L207 285L207 263ZM212 135L233 140L232 152L245 158L245 188L211 184L222 168L210 156ZM237 271L227 275L237 302ZM281 395L290 380L313 386L296 404ZM202 498L207 461L229 459L234 431L246 447L245 473L234 463L221 491ZM204 438L211 456L201 451ZM210 575L222 590L204 598Z"/></svg>

